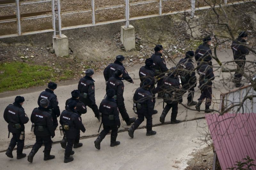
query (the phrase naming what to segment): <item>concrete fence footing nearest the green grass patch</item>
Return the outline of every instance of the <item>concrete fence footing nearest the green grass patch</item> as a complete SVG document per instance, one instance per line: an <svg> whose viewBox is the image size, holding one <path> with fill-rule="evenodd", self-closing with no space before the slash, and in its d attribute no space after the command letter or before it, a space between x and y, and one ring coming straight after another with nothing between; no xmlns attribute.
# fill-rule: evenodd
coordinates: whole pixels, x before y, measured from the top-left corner
<svg viewBox="0 0 256 170"><path fill-rule="evenodd" d="M68 56L68 37L64 34L52 37L52 47L57 56Z"/></svg>

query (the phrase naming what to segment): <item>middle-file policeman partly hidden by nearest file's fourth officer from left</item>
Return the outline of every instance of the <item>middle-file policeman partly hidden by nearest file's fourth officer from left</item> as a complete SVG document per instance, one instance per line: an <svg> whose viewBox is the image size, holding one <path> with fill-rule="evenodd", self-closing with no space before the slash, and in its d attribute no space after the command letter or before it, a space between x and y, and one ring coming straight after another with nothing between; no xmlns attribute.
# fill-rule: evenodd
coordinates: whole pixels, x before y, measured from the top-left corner
<svg viewBox="0 0 256 170"><path fill-rule="evenodd" d="M124 83L122 81L122 80L124 80L122 78L123 71L121 69L116 69L114 74L115 74L114 77L111 77L111 78L108 79L106 91L108 91L108 89L114 89L115 90L114 99L116 100L118 110L119 110L120 114L122 115L126 124L130 125L136 120L136 118L135 117L130 118L126 109L125 109L125 106L124 106L124 96L123 96Z"/></svg>

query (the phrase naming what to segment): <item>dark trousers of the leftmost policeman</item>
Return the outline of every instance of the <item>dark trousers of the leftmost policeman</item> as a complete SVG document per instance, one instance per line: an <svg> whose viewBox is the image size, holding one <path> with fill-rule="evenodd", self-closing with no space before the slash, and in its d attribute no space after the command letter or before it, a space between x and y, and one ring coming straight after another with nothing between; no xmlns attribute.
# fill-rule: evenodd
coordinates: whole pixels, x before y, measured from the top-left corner
<svg viewBox="0 0 256 170"><path fill-rule="evenodd" d="M20 133L12 133L12 139L8 150L13 151L17 144L17 155L21 155L24 147L24 140L20 140Z"/></svg>

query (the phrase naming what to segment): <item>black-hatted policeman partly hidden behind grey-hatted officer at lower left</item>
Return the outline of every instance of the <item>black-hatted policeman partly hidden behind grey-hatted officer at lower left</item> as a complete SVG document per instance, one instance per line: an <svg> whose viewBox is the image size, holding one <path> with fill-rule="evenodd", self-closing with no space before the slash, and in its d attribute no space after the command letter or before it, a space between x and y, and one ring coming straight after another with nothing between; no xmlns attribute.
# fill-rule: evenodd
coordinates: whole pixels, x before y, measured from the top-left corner
<svg viewBox="0 0 256 170"><path fill-rule="evenodd" d="M45 89L44 92L40 93L40 95L38 97L38 100L37 100L38 106L41 106L40 101L42 99L48 99L49 100L50 103L49 103L47 108L50 109L51 112L52 112L53 126L55 127L55 129L58 126L57 117L60 116L60 108L58 106L59 102L58 102L57 96L53 92L56 88L57 88L56 83L53 83L53 82L48 83L48 88Z"/></svg>

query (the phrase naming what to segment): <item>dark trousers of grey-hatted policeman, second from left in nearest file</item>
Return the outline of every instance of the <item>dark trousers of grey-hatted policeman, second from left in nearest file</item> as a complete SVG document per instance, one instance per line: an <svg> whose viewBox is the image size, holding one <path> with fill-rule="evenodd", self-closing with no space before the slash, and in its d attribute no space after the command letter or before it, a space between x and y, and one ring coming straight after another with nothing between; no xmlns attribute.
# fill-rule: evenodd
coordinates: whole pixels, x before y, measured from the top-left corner
<svg viewBox="0 0 256 170"><path fill-rule="evenodd" d="M51 136L36 136L36 143L34 144L31 152L35 155L41 148L42 144L44 144L44 153L50 154L52 148Z"/></svg>

